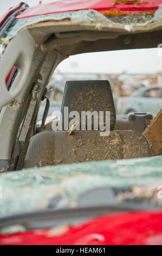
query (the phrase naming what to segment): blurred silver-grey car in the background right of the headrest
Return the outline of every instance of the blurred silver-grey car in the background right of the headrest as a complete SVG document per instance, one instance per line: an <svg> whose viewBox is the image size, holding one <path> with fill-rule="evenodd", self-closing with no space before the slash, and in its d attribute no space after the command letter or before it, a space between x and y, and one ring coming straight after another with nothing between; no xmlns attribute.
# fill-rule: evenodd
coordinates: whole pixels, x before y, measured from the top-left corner
<svg viewBox="0 0 162 256"><path fill-rule="evenodd" d="M157 114L162 107L162 86L151 86L137 90L127 97L118 97L118 114L130 112L151 112Z"/></svg>

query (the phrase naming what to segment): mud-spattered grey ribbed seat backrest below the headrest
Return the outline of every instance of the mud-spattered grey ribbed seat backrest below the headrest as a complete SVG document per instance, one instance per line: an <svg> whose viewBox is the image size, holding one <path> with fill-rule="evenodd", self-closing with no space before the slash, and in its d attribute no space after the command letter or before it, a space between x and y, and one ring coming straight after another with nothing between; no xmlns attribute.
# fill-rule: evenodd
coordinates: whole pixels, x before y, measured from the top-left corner
<svg viewBox="0 0 162 256"><path fill-rule="evenodd" d="M107 137L99 131L46 131L31 139L24 168L147 156L150 144L137 131L111 131Z"/></svg>

